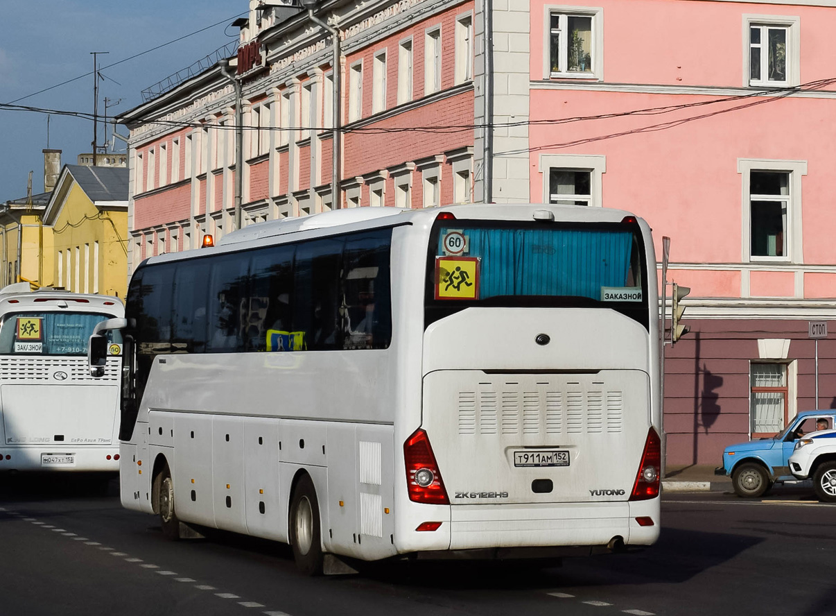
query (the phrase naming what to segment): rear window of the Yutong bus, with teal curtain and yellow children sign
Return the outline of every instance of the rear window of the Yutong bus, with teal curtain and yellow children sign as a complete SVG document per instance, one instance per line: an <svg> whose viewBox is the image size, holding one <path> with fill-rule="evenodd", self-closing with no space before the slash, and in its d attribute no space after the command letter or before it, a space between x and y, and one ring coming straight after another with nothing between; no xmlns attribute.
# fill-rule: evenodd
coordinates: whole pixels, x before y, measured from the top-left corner
<svg viewBox="0 0 836 616"><path fill-rule="evenodd" d="M426 325L471 306L613 309L648 327L635 223L442 220L427 262Z"/></svg>

